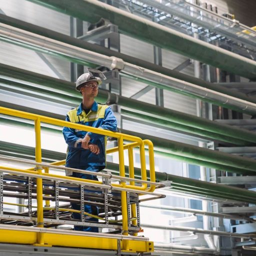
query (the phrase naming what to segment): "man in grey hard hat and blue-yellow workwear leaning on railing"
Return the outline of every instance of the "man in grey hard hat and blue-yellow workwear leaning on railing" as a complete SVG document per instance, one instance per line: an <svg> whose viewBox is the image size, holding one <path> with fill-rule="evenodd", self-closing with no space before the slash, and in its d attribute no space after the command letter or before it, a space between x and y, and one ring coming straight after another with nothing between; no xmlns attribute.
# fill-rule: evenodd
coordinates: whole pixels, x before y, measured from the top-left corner
<svg viewBox="0 0 256 256"><path fill-rule="evenodd" d="M87 70L88 72L80 75L75 83L75 89L82 94L82 102L78 107L67 113L65 120L116 131L117 122L111 108L94 100L98 93L98 85L102 82L102 79L105 79L105 76L97 69L87 68ZM106 136L68 127L63 127L62 132L68 145L66 167L93 172L104 169L106 161ZM97 180L95 175L74 171L66 171L66 175ZM80 210L80 204L71 203L71 207ZM98 215L98 208L95 205L84 204L84 211ZM81 219L79 213L72 213L72 216L75 219ZM86 220L97 221L95 217L88 218L86 215L85 217ZM74 226L74 230L98 232L98 228L92 226Z"/></svg>

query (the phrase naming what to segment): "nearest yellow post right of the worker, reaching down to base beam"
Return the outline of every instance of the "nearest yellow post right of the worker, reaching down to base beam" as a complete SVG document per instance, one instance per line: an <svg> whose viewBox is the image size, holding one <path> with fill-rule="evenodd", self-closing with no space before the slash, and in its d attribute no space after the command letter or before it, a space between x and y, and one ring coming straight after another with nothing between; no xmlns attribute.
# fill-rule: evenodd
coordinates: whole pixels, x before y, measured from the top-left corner
<svg viewBox="0 0 256 256"><path fill-rule="evenodd" d="M119 153L119 172L120 176L125 177L124 155L123 155L123 137L118 138L118 153ZM121 181L122 187L125 187L125 181ZM122 209L122 232L128 235L128 214L127 214L127 197L126 191L121 191L121 209ZM128 241L123 240L123 249L127 250Z"/></svg>

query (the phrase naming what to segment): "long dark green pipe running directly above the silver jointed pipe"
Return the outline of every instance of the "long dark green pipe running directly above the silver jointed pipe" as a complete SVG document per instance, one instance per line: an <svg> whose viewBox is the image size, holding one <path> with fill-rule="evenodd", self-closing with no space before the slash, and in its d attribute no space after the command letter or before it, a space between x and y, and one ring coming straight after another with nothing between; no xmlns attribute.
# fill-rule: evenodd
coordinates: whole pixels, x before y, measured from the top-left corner
<svg viewBox="0 0 256 256"><path fill-rule="evenodd" d="M225 88L224 86L219 86L218 84L214 84L214 83L210 83L207 81L204 81L202 79L193 77L193 76L189 76L187 74L183 74L181 72L175 71L175 70L171 70L168 69L166 67L160 66L160 65L156 65L154 63L150 63L144 60L141 60L139 58L135 58L132 56L128 56L126 54L111 50L109 48L94 44L94 43L89 43L87 41L84 40L80 40L62 33L58 33L56 31L44 28L44 27L40 27L19 19L15 19L13 17L4 15L4 14L0 14L0 22L7 24L7 25L11 25L32 33L36 33L36 34L40 34L42 36L46 36L48 38L54 39L54 40L58 40L61 42L65 42L68 43L70 45L74 45L80 48L84 48L87 50L91 50L100 54L104 54L106 56L116 56L118 58L123 59L125 62L134 64L134 65L138 65L153 71L156 71L158 73L162 73L180 80L184 80L193 84L197 84L199 86L208 88L208 89L212 89L233 97L237 97L240 99L244 99L246 101L250 101L250 102L254 102L256 103L256 100L253 97L249 97L243 93L239 93L235 90L230 90L228 88ZM180 91L177 91L178 93L180 93ZM189 94L189 96L191 96ZM205 100L205 99L204 99Z"/></svg>

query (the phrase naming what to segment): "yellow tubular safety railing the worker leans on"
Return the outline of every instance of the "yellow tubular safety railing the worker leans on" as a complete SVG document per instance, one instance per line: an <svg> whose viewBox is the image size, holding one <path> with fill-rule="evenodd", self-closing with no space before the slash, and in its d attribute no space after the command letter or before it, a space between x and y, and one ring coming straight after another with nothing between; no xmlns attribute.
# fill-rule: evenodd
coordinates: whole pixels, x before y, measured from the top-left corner
<svg viewBox="0 0 256 256"><path fill-rule="evenodd" d="M74 129L79 129L79 130L84 130L84 131L90 131L106 136L111 136L117 138L118 141L118 146L113 147L110 149L107 149L107 153L111 152L117 152L118 151L118 156L119 156L119 175L121 177L125 177L125 167L124 167L124 149L128 149L128 159L129 159L129 177L134 178L134 166L133 166L133 148L134 147L139 147L139 154L140 154L140 167L141 167L141 185L135 185L135 182L130 180L129 183L126 183L124 179L121 179L120 184L111 184L113 187L122 187L122 188L129 188L129 189L136 189L141 191L147 191L147 192L152 192L155 189L154 184L150 184L149 187L147 187L147 178L151 182L155 182L155 173L154 173L154 155L153 155L153 144L150 140L142 140L139 137L124 134L124 133L119 133L119 132L113 132L109 130L104 130L100 128L94 128L91 126L85 126L82 124L77 124L77 123L72 123L68 121L63 121L43 115L38 115L38 114L33 114L33 113L28 113L24 111L19 111L19 110L14 110L10 108L5 108L5 107L0 107L0 113L6 114L6 115L12 115L20 118L25 118L25 119L30 119L34 120L34 130L35 130L35 161L37 163L41 163L41 122L44 123L49 123L57 126L66 126ZM132 141L131 143L128 144L123 144L123 140L128 140ZM148 146L148 153L149 153L149 165L150 165L150 176L147 177L146 174L146 166L145 166L145 149L144 145ZM64 163L64 161L60 162L55 162L52 163L53 165L59 165ZM9 169L7 167L3 167L4 169ZM13 169L13 168L11 168ZM20 171L20 169L16 169L17 171ZM36 173L40 175L40 177L36 178L36 200L37 200L37 226L38 227L43 227L43 200L42 200L42 177L54 177L54 178L61 178L63 176L60 175L55 175L55 174L50 174L48 167L44 168L45 172L42 173L42 167L40 165L35 166L35 171L31 170L21 170L24 173ZM80 178L75 178L75 177L68 177L70 180L83 180L86 182L94 183L94 184L102 184L101 181L96 181L96 180L90 180L90 179L80 179ZM46 205L49 206L49 201L46 201ZM122 230L123 234L127 235L128 234L128 216L127 216L127 200L126 200L126 191L121 190L121 212L122 212ZM135 210L135 205L131 205L131 219L132 223L135 224L136 222L136 210ZM43 244L43 233L38 233L37 237L37 243L38 244Z"/></svg>

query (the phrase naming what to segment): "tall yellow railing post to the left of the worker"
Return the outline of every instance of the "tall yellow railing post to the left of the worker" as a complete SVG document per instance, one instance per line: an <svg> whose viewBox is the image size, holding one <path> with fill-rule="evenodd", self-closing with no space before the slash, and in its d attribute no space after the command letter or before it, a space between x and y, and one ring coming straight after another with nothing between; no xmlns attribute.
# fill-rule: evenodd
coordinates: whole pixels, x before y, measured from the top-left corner
<svg viewBox="0 0 256 256"><path fill-rule="evenodd" d="M34 120L35 130L35 161L41 162L41 128L40 118ZM36 166L38 174L42 173L42 169ZM42 178L36 178L36 202L37 202L37 227L43 227L43 205L42 205ZM44 244L43 233L37 233L37 244Z"/></svg>

